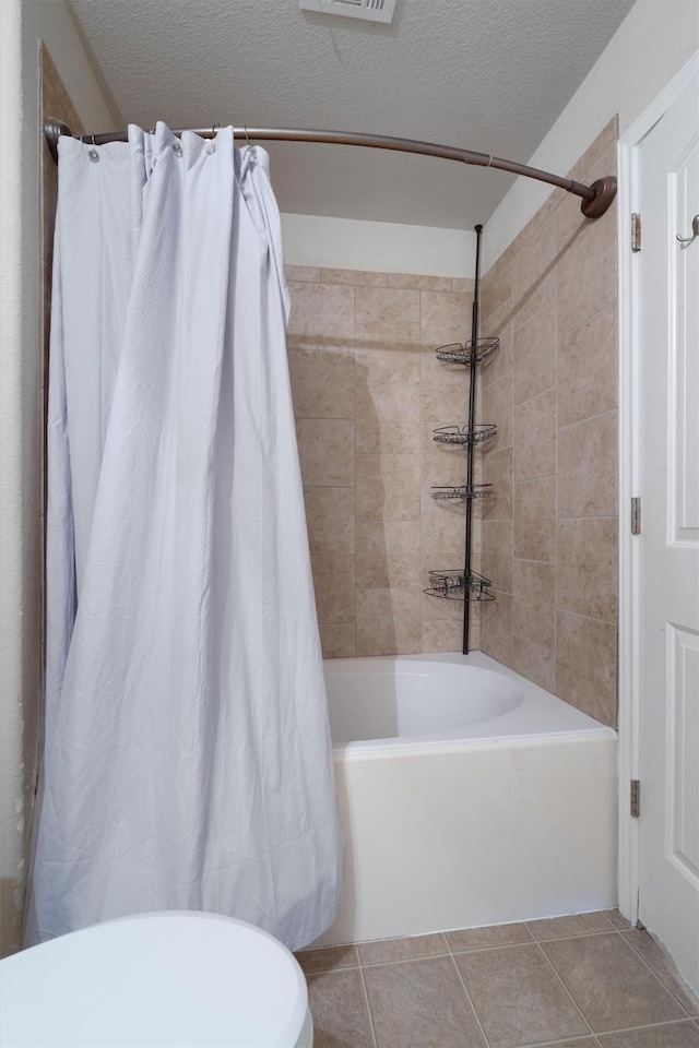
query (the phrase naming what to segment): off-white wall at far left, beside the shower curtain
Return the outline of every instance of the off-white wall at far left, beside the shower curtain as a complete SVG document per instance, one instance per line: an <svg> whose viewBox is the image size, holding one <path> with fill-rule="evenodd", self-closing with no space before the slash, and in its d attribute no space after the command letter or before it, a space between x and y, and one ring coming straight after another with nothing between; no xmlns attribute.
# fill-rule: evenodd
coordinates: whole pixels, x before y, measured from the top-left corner
<svg viewBox="0 0 699 1048"><path fill-rule="evenodd" d="M39 40L84 123L115 121L63 0L2 0L0 19L0 949L8 953L21 934L42 680Z"/></svg>

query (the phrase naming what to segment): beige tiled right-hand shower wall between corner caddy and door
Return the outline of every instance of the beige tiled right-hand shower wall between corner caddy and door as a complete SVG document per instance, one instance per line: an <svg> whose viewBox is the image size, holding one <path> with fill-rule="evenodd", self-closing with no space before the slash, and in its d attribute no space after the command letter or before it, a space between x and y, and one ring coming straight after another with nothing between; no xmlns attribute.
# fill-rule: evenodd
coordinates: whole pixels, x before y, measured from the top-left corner
<svg viewBox="0 0 699 1048"><path fill-rule="evenodd" d="M611 122L571 176L615 172ZM483 479L482 647L596 717L616 722L616 206L584 219L556 191L483 282L483 373L497 442Z"/></svg>

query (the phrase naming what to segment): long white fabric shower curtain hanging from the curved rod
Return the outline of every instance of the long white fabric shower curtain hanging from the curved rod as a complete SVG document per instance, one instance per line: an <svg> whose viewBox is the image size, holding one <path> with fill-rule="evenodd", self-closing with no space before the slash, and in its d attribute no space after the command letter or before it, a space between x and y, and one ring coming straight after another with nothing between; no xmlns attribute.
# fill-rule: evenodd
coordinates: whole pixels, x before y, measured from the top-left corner
<svg viewBox="0 0 699 1048"><path fill-rule="evenodd" d="M201 909L296 949L341 842L268 156L59 152L27 939Z"/></svg>

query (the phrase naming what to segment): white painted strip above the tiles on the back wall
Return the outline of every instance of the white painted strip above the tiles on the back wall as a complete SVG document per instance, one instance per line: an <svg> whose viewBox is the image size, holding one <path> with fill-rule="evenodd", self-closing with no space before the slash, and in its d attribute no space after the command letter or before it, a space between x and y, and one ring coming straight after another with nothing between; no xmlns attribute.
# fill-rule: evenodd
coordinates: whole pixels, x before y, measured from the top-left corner
<svg viewBox="0 0 699 1048"><path fill-rule="evenodd" d="M282 215L284 261L379 273L473 276L476 235L392 222Z"/></svg>

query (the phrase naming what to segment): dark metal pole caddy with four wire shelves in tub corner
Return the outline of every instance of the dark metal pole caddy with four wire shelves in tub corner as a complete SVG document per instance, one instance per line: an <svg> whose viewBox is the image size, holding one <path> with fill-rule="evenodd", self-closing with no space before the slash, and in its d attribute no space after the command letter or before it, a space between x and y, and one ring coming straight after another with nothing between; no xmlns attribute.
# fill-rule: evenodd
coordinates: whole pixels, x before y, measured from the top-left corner
<svg viewBox="0 0 699 1048"><path fill-rule="evenodd" d="M471 567L472 534L473 534L473 502L488 499L493 492L489 484L473 483L473 449L476 444L485 444L497 437L497 426L491 422L476 422L475 392L476 368L489 360L500 347L499 338L478 337L478 289L481 272L481 233L482 226L476 226L476 277L471 318L471 334L469 342L450 343L439 346L436 350L437 359L445 364L458 364L469 368L469 421L465 426L440 426L433 432L433 439L441 444L457 444L466 448L466 483L457 486L433 487L433 498L437 500L461 499L466 503L466 551L463 571L430 571L429 587L425 593L433 597L447 600L463 600L463 653L469 653L470 604L473 600L495 600L493 582L485 575L478 574Z"/></svg>

